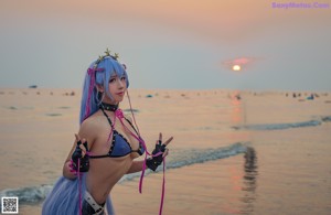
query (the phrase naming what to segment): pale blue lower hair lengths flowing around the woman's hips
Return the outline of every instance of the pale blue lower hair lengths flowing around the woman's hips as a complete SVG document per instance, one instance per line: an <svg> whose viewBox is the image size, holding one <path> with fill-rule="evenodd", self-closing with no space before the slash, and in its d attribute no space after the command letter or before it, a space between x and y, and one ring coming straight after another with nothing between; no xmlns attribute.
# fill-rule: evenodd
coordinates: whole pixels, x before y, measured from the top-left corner
<svg viewBox="0 0 331 215"><path fill-rule="evenodd" d="M83 201L86 191L86 174L83 174L81 183L77 179L68 180L61 176L43 203L42 215L78 215L79 184L82 194L81 201ZM107 198L106 205L108 215L114 215L115 212L110 197Z"/></svg>

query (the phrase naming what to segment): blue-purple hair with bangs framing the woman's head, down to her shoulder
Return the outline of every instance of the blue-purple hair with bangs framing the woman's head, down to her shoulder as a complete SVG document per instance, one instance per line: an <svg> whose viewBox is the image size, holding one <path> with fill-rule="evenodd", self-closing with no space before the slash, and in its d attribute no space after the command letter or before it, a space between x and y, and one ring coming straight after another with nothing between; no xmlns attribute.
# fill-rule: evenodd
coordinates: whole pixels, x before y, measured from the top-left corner
<svg viewBox="0 0 331 215"><path fill-rule="evenodd" d="M109 79L115 73L118 77L125 76L127 87L129 87L126 66L114 56L104 56L102 61L97 60L89 65L82 93L79 123L99 109L102 98L98 96L96 85L104 86L105 94L113 100L109 93Z"/></svg>

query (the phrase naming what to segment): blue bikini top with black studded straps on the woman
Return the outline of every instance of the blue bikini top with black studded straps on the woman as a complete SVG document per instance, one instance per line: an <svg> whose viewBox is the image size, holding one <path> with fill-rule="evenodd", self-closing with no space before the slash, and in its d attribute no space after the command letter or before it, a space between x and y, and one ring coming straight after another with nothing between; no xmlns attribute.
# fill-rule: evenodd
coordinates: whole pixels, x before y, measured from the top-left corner
<svg viewBox="0 0 331 215"><path fill-rule="evenodd" d="M104 109L102 109L102 110L103 110L104 115L107 117L107 120L108 120L110 127L113 128L113 123L111 123L111 120L109 119L108 115L105 112ZM134 127L134 125L131 123L131 121L129 121L127 118L125 118L125 119L127 120L127 122L129 122L129 125L134 128L135 132L139 137L139 133L137 132L137 130ZM103 154L103 155L89 155L89 158L90 159L120 158L120 157L125 157L132 152L137 152L139 155L143 154L145 149L143 149L141 142L139 142L139 148L137 150L134 150L131 148L131 144L129 143L129 141L122 135L120 135L117 130L113 129L113 141L111 141L109 152L107 154Z"/></svg>

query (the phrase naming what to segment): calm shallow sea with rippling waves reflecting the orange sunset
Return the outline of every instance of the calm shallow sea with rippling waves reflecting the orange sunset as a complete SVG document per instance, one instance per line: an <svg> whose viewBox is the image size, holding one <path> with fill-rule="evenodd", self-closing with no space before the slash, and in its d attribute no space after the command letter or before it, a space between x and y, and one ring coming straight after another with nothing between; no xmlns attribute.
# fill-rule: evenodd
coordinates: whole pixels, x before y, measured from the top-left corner
<svg viewBox="0 0 331 215"><path fill-rule="evenodd" d="M164 215L330 214L330 93L129 94L149 149L160 131L174 137ZM78 130L81 92L0 88L0 195L17 191L20 214L40 214L45 187L61 175ZM129 114L127 99L120 108ZM128 175L115 186L117 214L158 214L162 172L146 175L142 194L138 184Z"/></svg>

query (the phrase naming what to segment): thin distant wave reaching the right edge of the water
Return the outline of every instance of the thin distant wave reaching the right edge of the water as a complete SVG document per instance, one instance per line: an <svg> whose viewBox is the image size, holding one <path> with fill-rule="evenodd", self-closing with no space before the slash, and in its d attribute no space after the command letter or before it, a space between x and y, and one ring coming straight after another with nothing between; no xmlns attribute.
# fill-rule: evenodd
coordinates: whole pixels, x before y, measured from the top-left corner
<svg viewBox="0 0 331 215"><path fill-rule="evenodd" d="M331 117L319 117L319 119L312 119L309 121L300 122L289 122L289 123L259 123L259 125L246 125L246 126L234 126L232 127L235 130L284 130L291 128L303 128L303 127L314 127L321 126L323 122L330 122Z"/></svg>

